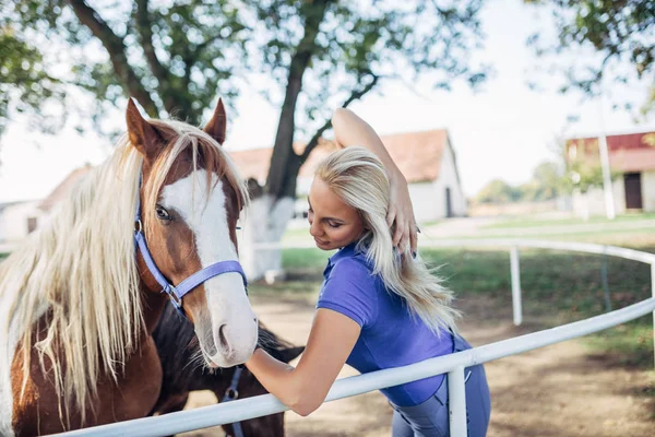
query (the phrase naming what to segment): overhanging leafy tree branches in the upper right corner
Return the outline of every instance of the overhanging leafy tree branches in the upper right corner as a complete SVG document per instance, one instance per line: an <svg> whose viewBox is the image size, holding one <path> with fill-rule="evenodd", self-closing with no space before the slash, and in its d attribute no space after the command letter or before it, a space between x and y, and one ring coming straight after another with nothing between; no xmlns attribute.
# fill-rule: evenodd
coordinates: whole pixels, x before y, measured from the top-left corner
<svg viewBox="0 0 655 437"><path fill-rule="evenodd" d="M648 80L653 87L642 113L655 107L655 1L653 0L525 0L552 11L558 39L543 43L539 34L528 43L544 57L555 56L555 64L563 70L561 91L581 90L586 95L600 93L599 85L608 76L628 83L634 76ZM595 56L563 55L587 50ZM549 73L551 74L551 73ZM621 102L615 102L615 105ZM622 102L626 108L632 102Z"/></svg>

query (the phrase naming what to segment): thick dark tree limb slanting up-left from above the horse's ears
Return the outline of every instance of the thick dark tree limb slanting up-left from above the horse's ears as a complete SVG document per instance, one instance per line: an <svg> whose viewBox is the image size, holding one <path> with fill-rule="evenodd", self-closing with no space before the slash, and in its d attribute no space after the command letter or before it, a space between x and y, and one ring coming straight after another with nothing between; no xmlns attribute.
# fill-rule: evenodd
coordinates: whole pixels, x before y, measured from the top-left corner
<svg viewBox="0 0 655 437"><path fill-rule="evenodd" d="M150 93L143 86L141 79L136 75L126 55L126 45L103 20L103 17L84 0L67 0L80 22L102 43L114 67L114 71L120 78L122 88L128 95L135 97L151 117L158 116L157 105L153 102Z"/></svg>

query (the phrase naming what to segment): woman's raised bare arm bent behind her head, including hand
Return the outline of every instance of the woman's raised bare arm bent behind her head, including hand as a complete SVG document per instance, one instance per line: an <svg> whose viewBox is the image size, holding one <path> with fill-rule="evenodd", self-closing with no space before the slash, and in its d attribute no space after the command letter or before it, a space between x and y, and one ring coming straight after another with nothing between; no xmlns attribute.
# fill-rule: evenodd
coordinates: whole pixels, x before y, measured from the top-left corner
<svg viewBox="0 0 655 437"><path fill-rule="evenodd" d="M395 223L393 245L403 251L409 246L412 252L415 253L418 227L414 217L407 180L389 155L382 140L373 128L349 109L335 109L332 116L332 126L334 127L334 139L338 145L344 147L361 145L374 153L384 165L391 185L386 222L390 227Z"/></svg>

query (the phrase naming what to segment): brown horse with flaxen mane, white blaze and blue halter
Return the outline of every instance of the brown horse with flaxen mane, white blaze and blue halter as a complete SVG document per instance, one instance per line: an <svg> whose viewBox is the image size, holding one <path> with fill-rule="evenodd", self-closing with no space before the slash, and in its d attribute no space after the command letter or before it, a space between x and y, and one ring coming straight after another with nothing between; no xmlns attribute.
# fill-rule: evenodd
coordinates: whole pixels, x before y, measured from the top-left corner
<svg viewBox="0 0 655 437"><path fill-rule="evenodd" d="M167 299L207 366L245 363L257 345L237 260L248 192L221 147L223 102L204 129L145 120L132 99L126 118L111 156L0 264L2 436L146 416Z"/></svg>

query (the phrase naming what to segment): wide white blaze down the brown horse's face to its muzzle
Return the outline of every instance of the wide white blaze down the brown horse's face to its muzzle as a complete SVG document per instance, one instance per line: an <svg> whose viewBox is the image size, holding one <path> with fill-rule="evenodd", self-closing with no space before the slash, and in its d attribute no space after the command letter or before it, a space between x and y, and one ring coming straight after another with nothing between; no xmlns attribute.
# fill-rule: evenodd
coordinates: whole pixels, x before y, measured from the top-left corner
<svg viewBox="0 0 655 437"><path fill-rule="evenodd" d="M223 181L215 175L211 179L207 176L206 170L201 169L162 191L160 205L176 211L195 241L186 275L216 262L238 260L236 235L230 232L236 227L238 212L226 208L231 202ZM207 187L207 182L211 186ZM257 344L257 317L238 273L210 279L184 297L183 304L192 315L209 365L230 367L250 357Z"/></svg>

